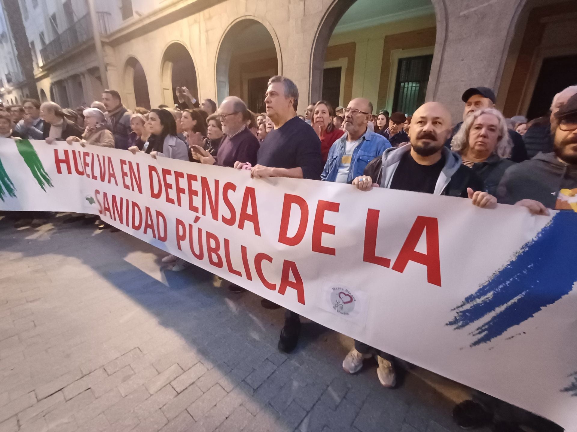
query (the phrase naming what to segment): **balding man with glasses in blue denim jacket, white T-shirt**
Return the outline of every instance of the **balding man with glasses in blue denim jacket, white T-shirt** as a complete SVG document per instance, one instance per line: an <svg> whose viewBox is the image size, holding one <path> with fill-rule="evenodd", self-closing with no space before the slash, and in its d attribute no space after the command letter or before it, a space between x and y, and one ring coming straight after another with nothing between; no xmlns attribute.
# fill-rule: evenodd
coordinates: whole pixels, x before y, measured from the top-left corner
<svg viewBox="0 0 577 432"><path fill-rule="evenodd" d="M372 111L373 104L364 97L351 100L344 108L345 132L331 146L321 180L351 183L362 176L370 161L391 147L387 138L368 128Z"/></svg>

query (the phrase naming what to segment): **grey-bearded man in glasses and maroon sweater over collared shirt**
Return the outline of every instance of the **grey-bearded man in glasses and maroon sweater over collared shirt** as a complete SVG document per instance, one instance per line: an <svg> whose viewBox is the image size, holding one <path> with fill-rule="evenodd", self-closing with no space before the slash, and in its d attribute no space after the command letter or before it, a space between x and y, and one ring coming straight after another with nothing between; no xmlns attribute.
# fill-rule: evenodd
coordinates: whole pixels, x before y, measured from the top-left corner
<svg viewBox="0 0 577 432"><path fill-rule="evenodd" d="M224 132L224 139L218 148L216 157L211 156L207 150L200 146L193 146L193 157L203 164L234 166L236 161L256 164L259 147L256 138L246 127L249 110L241 98L228 96L220 104L218 109L220 124Z"/></svg>

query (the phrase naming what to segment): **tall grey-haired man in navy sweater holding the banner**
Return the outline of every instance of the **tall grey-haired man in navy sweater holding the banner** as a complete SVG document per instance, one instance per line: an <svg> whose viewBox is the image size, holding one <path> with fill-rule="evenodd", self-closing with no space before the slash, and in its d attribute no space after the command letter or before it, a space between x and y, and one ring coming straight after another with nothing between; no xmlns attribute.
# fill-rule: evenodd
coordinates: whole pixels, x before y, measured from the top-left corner
<svg viewBox="0 0 577 432"><path fill-rule="evenodd" d="M268 81L264 103L267 116L275 125L263 139L257 154L257 165L250 169L254 179L292 177L293 179L320 180L323 170L321 141L310 124L297 117L298 89L293 81L276 75ZM246 164L237 161L234 167ZM263 299L267 309L280 306ZM284 327L280 332L279 350L290 353L297 346L301 321L297 313L286 310Z"/></svg>

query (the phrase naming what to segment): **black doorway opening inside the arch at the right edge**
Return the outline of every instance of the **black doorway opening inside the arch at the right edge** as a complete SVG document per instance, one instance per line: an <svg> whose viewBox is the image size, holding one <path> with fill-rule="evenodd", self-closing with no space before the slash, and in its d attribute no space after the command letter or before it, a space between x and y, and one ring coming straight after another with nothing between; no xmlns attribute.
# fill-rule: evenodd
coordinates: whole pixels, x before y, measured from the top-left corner
<svg viewBox="0 0 577 432"><path fill-rule="evenodd" d="M577 84L576 70L577 55L544 59L527 109L527 119L549 115L553 96L564 88Z"/></svg>

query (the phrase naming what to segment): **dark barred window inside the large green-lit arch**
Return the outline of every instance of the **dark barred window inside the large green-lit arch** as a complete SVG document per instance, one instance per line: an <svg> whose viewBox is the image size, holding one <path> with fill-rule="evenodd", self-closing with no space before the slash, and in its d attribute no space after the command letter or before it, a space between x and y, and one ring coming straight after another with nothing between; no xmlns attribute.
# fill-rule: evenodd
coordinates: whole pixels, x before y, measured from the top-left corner
<svg viewBox="0 0 577 432"><path fill-rule="evenodd" d="M419 55L399 59L395 82L393 112L413 115L425 102L433 55Z"/></svg>

